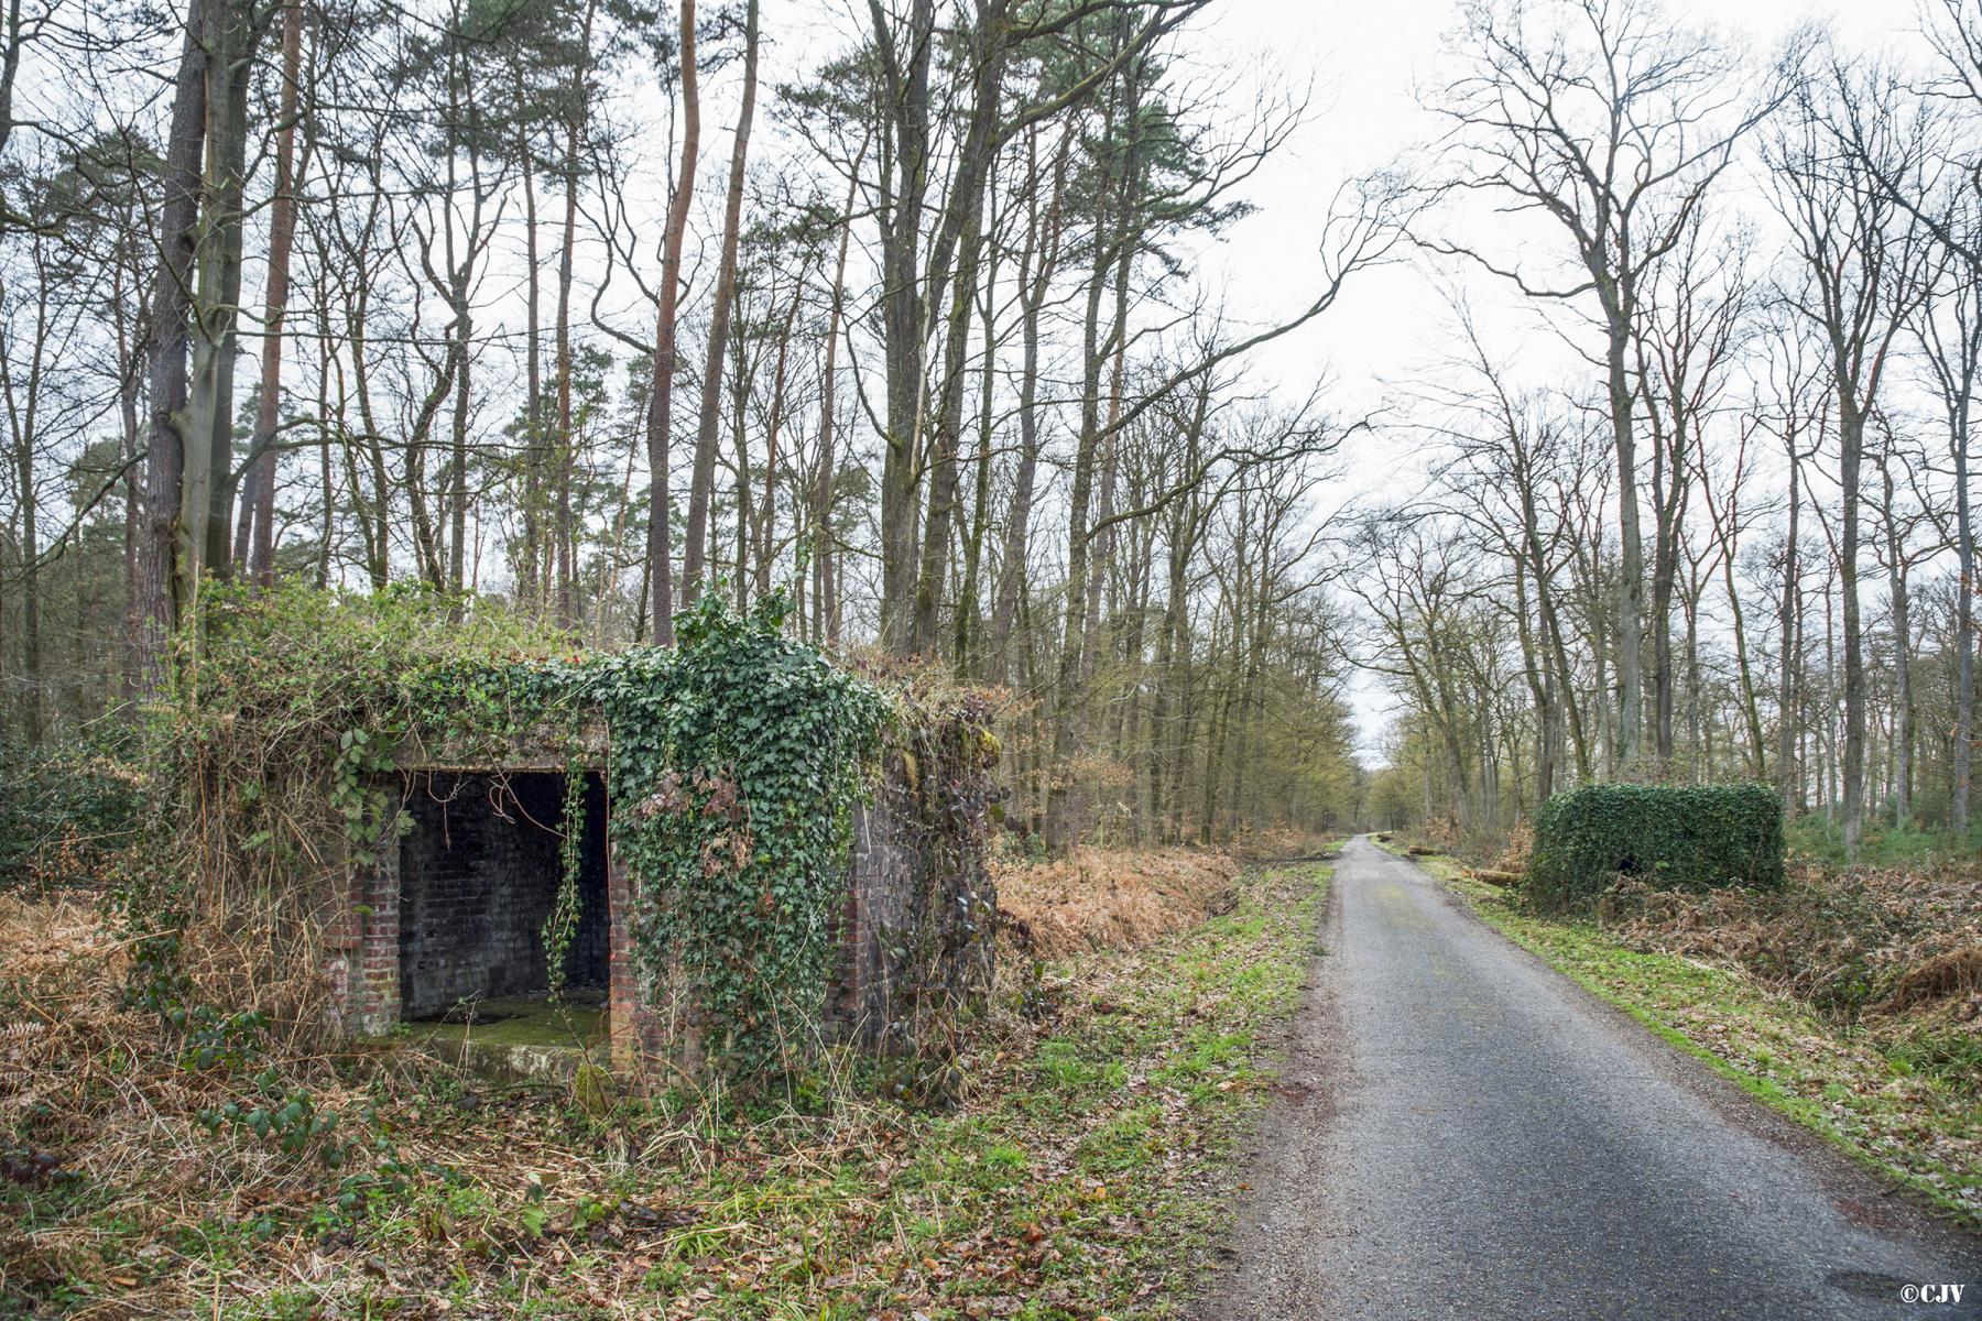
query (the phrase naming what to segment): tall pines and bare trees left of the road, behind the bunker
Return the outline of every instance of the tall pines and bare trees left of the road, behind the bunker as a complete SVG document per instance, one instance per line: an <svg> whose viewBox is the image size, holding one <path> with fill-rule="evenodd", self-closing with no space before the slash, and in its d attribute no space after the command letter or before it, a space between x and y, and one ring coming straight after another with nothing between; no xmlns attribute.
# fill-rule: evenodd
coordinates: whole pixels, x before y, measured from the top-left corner
<svg viewBox="0 0 1982 1321"><path fill-rule="evenodd" d="M1306 107L1173 67L1203 10L850 4L773 85L755 0L16 8L8 739L166 685L214 578L605 648L785 590L1005 687L1037 832L1346 812L1340 436L1247 349L1397 230L1344 192L1332 283L1221 321L1189 254Z"/></svg>

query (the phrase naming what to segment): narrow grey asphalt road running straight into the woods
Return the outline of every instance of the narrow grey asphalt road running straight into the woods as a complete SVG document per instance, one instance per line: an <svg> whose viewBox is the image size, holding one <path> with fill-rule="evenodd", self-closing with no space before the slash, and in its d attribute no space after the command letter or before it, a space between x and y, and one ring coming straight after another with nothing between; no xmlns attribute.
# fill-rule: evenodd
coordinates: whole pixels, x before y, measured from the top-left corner
<svg viewBox="0 0 1982 1321"><path fill-rule="evenodd" d="M1328 911L1207 1321L1982 1315L1982 1244L1411 864L1356 840Z"/></svg>

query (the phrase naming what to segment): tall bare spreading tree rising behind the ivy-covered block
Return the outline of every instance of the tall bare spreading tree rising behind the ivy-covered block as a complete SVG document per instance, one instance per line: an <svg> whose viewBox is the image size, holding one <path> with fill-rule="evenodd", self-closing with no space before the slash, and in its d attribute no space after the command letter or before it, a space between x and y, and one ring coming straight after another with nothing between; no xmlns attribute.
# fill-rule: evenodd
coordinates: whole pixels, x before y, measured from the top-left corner
<svg viewBox="0 0 1982 1321"><path fill-rule="evenodd" d="M1631 764L1643 735L1645 618L1633 335L1653 267L1683 242L1734 143L1768 105L1746 93L1724 46L1673 24L1649 0L1473 4L1457 48L1465 71L1429 97L1451 123L1441 143L1451 164L1437 190L1536 218L1568 240L1554 269L1574 273L1562 279L1546 263L1429 226L1419 242L1463 254L1546 305L1596 303L1623 547L1617 743Z"/></svg>

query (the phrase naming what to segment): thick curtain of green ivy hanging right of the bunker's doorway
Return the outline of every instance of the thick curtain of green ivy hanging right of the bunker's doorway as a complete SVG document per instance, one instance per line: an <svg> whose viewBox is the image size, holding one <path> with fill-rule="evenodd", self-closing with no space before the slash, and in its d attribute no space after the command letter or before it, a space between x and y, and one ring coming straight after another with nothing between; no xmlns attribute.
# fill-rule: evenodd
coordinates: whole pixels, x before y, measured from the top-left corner
<svg viewBox="0 0 1982 1321"><path fill-rule="evenodd" d="M708 594L676 652L599 661L612 731L612 832L638 879L634 945L652 1004L731 1075L783 1071L815 1040L846 885L852 808L892 703Z"/></svg>

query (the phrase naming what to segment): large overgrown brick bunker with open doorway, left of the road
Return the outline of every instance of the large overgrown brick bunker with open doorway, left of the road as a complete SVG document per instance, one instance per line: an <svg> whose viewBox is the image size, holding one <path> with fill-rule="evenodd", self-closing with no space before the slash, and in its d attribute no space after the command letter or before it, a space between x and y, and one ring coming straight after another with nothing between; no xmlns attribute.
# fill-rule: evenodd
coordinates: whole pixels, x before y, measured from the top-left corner
<svg viewBox="0 0 1982 1321"><path fill-rule="evenodd" d="M186 782L224 822L204 901L248 879L315 933L327 1004L299 1012L375 1036L555 998L620 1066L747 1075L826 1040L943 1052L989 990L983 695L856 675L777 598L573 656L281 596L216 612ZM335 681L272 669L299 624Z"/></svg>

